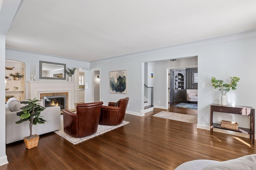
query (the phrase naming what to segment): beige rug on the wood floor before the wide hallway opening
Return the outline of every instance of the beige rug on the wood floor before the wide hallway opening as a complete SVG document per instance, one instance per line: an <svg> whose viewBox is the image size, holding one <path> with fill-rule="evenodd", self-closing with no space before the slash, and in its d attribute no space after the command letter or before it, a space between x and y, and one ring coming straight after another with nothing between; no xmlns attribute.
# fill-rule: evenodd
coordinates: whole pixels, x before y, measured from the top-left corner
<svg viewBox="0 0 256 170"><path fill-rule="evenodd" d="M185 114L180 114L180 113L173 113L173 112L168 112L168 111L161 111L155 115L155 117L162 117L165 119L171 119L171 120L176 120L176 121L183 121L187 123L193 123L197 124L197 116L194 115L185 115Z"/></svg>

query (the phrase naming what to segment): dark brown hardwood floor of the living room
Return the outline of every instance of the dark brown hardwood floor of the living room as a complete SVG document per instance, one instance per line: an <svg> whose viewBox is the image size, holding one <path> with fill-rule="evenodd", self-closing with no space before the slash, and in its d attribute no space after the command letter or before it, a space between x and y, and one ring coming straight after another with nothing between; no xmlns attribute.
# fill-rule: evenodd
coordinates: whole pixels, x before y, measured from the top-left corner
<svg viewBox="0 0 256 170"><path fill-rule="evenodd" d="M40 135L38 147L23 141L6 145L9 164L1 170L173 170L195 159L229 160L255 154L247 138L197 129L195 124L152 117L125 115L130 123L73 145L56 135ZM167 110L168 111L168 110ZM170 106L172 112L196 115L195 109ZM210 114L210 113L209 113Z"/></svg>

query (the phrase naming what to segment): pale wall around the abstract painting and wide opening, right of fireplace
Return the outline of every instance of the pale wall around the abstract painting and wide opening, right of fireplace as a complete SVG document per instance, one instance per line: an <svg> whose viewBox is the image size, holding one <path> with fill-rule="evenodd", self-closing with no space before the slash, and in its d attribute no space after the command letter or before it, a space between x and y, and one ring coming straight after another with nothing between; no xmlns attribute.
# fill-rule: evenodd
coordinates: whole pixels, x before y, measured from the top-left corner
<svg viewBox="0 0 256 170"><path fill-rule="evenodd" d="M248 31L235 35L218 37L194 43L176 45L152 51L110 58L103 61L91 62L91 68L101 68L102 101L117 101L119 98L130 97L130 107L127 111L138 113L142 109L143 90L140 87L141 79L144 80L144 68L142 63L150 61L161 61L168 59L180 59L189 56L198 56L198 127L209 128L210 125L210 104L220 103L220 92L212 87L210 79L212 76L229 81L230 76L240 77L237 90L231 90L227 94L228 104L234 102L240 106L252 106L254 102L253 85L254 67L256 63L256 31ZM193 64L192 64L193 65ZM157 66L156 66L157 67ZM162 73L165 74L165 67ZM109 71L127 70L127 94L109 93ZM155 74L155 78L158 77ZM161 74L162 75L162 74ZM159 76L165 79L165 76ZM158 82L156 78L154 80ZM201 84L206 87L202 88ZM163 89L163 90L162 90ZM163 95L165 86L154 83L154 90ZM154 92L156 95L156 92ZM156 97L156 96L154 96ZM165 96L162 96L164 98ZM156 97L156 100L158 100ZM159 98L160 100L160 98ZM166 101L163 101L166 103ZM162 102L161 102L162 103Z"/></svg>

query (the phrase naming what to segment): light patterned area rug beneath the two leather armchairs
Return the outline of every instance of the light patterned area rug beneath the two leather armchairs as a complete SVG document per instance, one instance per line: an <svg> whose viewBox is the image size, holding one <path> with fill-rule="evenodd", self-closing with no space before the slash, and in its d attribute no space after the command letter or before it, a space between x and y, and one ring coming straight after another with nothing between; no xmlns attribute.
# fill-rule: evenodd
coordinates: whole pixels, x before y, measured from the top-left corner
<svg viewBox="0 0 256 170"><path fill-rule="evenodd" d="M103 133L106 133L108 131L111 131L113 129L116 129L118 127L121 127L123 125L130 123L128 121L123 121L120 125L116 125L116 126L98 125L98 130L96 133L86 136L86 137L76 138L76 137L72 137L64 132L64 130L63 130L63 115L60 116L60 120L61 120L60 121L60 130L54 131L54 132L57 135L60 135L61 137L63 137L64 139L66 139L67 141L69 141L70 143L72 143L74 145L77 145L78 143L87 141L88 139L91 139L98 135L102 135Z"/></svg>

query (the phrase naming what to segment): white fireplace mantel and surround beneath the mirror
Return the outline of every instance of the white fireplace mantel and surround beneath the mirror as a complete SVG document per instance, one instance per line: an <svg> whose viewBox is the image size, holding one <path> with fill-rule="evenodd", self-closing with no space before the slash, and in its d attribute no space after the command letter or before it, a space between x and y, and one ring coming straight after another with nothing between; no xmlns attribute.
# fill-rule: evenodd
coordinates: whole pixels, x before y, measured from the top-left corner
<svg viewBox="0 0 256 170"><path fill-rule="evenodd" d="M67 95L67 108L74 109L74 82L67 81L28 81L29 98L42 99L45 94L60 94Z"/></svg>

